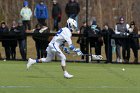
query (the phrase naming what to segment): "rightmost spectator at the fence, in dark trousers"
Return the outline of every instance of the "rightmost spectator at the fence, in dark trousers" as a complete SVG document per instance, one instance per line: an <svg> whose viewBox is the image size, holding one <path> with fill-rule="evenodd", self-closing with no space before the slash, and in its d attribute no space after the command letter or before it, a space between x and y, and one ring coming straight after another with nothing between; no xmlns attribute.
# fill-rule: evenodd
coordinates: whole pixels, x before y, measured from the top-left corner
<svg viewBox="0 0 140 93"><path fill-rule="evenodd" d="M130 47L132 48L132 51L134 53L134 63L138 63L138 49L139 49L139 39L138 36L138 28L136 27L136 24L134 21L130 23Z"/></svg>

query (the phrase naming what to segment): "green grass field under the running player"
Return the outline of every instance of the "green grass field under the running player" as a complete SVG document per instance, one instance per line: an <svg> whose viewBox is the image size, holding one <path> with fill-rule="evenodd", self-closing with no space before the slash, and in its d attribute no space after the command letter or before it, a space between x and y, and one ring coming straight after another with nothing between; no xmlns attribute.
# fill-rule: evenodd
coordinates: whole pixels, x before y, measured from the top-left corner
<svg viewBox="0 0 140 93"><path fill-rule="evenodd" d="M125 71L122 70L125 69ZM0 61L0 93L140 93L140 66L67 63L74 75L65 79L59 62Z"/></svg>

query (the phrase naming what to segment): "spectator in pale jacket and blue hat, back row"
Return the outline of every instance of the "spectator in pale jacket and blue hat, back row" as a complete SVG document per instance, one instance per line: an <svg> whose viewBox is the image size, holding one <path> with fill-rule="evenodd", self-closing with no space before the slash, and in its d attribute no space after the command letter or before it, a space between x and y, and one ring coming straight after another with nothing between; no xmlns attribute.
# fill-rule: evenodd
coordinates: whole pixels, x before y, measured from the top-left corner
<svg viewBox="0 0 140 93"><path fill-rule="evenodd" d="M20 15L22 17L22 22L23 25L25 26L25 30L31 30L31 16L32 16L32 11L31 9L28 7L28 1L24 1L23 3L23 8L20 11Z"/></svg>

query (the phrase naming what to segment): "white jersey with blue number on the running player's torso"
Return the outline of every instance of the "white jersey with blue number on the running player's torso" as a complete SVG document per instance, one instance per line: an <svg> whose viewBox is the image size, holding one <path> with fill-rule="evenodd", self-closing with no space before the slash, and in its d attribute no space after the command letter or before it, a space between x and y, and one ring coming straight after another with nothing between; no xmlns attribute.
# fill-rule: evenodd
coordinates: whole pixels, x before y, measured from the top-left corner
<svg viewBox="0 0 140 93"><path fill-rule="evenodd" d="M53 51L60 52L59 46L62 45L65 41L68 43L69 46L72 44L71 36L72 33L67 27L61 28L53 37L48 47L51 47L51 49L55 49Z"/></svg>

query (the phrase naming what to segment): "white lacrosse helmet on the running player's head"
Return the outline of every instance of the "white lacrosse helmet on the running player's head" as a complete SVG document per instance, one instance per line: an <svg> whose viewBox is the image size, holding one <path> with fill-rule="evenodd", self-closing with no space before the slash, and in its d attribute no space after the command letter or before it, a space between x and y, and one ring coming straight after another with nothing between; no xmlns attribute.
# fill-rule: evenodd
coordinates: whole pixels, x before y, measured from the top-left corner
<svg viewBox="0 0 140 93"><path fill-rule="evenodd" d="M67 20L67 27L71 30L71 31L74 31L77 29L77 22L72 19L72 18L69 18Z"/></svg>

